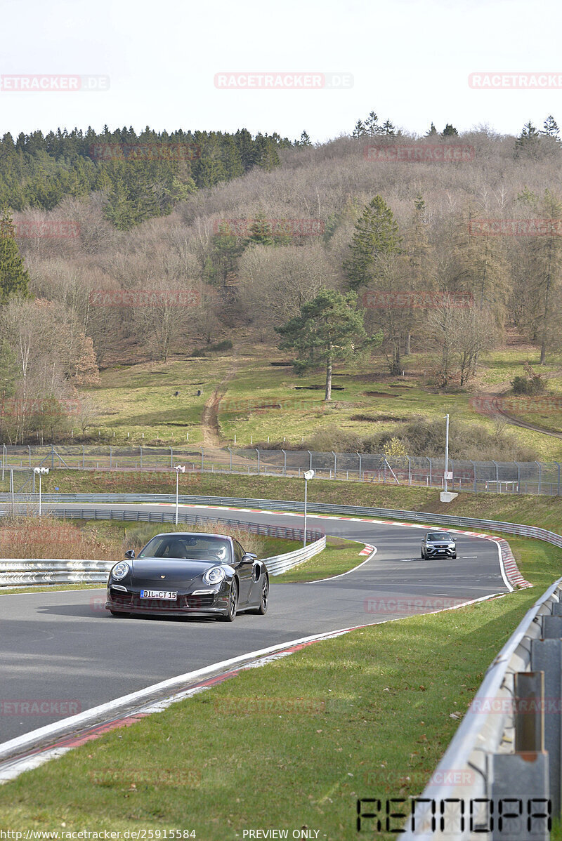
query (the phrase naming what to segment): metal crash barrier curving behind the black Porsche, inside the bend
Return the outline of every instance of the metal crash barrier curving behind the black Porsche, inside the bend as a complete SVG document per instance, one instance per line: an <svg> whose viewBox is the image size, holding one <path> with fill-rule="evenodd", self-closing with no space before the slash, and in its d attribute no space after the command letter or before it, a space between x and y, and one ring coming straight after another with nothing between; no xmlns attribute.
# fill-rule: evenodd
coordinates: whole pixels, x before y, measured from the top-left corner
<svg viewBox="0 0 562 841"><path fill-rule="evenodd" d="M120 521L146 521L146 522L175 522L175 513L168 511L115 511L98 509L57 509L53 511L56 516L80 520L120 520ZM110 513L110 516L109 516ZM135 516L138 515L138 516ZM287 540L302 541L305 537L303 529L289 528L287 526L270 526L264 523L251 523L242 520L233 520L228 517L205 517L197 514L180 514L178 521L190 523L197 526L198 523L205 525L217 524L241 528L251 534L264 537L282 537ZM306 547L295 549L294 552L274 555L272 558L264 558L268 572L271 575L280 575L293 569L299 563L312 558L315 554L326 548L326 535L321 532L307 529L306 540L309 544ZM31 586L33 584L95 584L99 581L107 581L109 569L114 561L97 560L72 560L61 558L41 558L33 560L30 558L0 558L0 588L14 586Z"/></svg>

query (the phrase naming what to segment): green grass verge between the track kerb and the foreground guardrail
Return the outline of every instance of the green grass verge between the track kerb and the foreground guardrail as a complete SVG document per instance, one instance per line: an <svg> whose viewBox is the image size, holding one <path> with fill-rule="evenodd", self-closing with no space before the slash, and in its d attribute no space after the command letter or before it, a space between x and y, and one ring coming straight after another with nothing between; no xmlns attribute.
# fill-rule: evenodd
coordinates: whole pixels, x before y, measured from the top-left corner
<svg viewBox="0 0 562 841"><path fill-rule="evenodd" d="M555 547L521 540L517 551L534 590L363 628L242 672L3 785L2 825L182 828L205 841L306 826L357 838L357 799L422 791L485 669L559 576Z"/></svg>

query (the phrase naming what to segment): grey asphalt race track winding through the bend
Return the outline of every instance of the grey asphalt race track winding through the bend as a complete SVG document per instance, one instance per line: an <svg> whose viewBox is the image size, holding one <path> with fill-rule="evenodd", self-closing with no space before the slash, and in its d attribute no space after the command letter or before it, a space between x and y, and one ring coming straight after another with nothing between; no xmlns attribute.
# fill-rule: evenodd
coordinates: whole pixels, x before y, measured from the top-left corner
<svg viewBox="0 0 562 841"><path fill-rule="evenodd" d="M142 508L161 511L162 505ZM297 527L303 519L269 511L228 515L198 507L198 512ZM308 517L308 526L370 543L377 553L360 569L330 581L281 584L273 578L268 614L241 614L234 624L113 617L104 609L104 589L0 595L0 701L19 701L17 707L2 705L0 743L157 681L276 643L507 591L496 544L482 538L459 535L457 560L422 561L420 528L316 516ZM358 555L358 563L362 560ZM22 714L25 703L45 701L60 703L46 714Z"/></svg>

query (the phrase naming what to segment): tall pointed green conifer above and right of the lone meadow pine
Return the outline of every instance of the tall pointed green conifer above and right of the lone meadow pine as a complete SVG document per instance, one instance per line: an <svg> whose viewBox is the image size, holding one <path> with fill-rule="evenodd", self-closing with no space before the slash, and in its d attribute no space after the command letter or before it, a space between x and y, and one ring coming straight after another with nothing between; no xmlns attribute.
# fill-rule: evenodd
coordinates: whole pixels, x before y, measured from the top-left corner
<svg viewBox="0 0 562 841"><path fill-rule="evenodd" d="M355 225L351 256L343 263L349 286L358 289L377 275L377 258L397 254L401 237L392 210L382 196L375 196Z"/></svg>

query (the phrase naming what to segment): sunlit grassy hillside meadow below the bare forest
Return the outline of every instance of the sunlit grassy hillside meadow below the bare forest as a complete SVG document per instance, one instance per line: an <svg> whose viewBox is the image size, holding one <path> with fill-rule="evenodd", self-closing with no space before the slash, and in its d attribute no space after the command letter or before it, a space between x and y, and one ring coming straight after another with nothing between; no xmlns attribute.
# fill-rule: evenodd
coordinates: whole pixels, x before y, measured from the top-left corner
<svg viewBox="0 0 562 841"><path fill-rule="evenodd" d="M432 420L446 413L454 420L478 423L492 432L494 421L476 412L470 398L489 386L509 388L510 380L522 373L528 358L532 364L538 362L535 357L537 353L528 349L486 354L478 379L459 394L443 394L429 385L433 363L423 353L405 357L404 378L390 377L380 359L369 363L367 373L340 365L335 368L333 384L343 386L343 390L334 391L331 404L326 405L321 390L302 388L322 386L322 373L296 377L292 368L272 366L271 361L282 357L276 349L263 347L253 356L251 351L235 351L212 358L174 358L167 364L145 362L109 368L102 372L100 385L86 393L98 406L94 436L99 430L102 435L98 441L115 445L148 445L158 440L166 446L179 446L187 443L187 433L189 443L200 444L204 403L234 369L234 377L225 383L219 412L225 445L232 445L235 436L236 446L267 442L268 437L270 442L286 439L298 445L311 430L334 425L362 436L375 431L396 432L400 430L400 418ZM551 375L549 390L562 389L558 366L553 359L540 368ZM198 389L203 390L199 397ZM179 391L178 397L173 396L175 391ZM352 420L354 415L368 415L374 421ZM381 420L377 420L379 417ZM389 420L392 417L396 420ZM562 453L562 443L555 438L516 427L510 431L521 446L533 447L539 458L554 459Z"/></svg>

